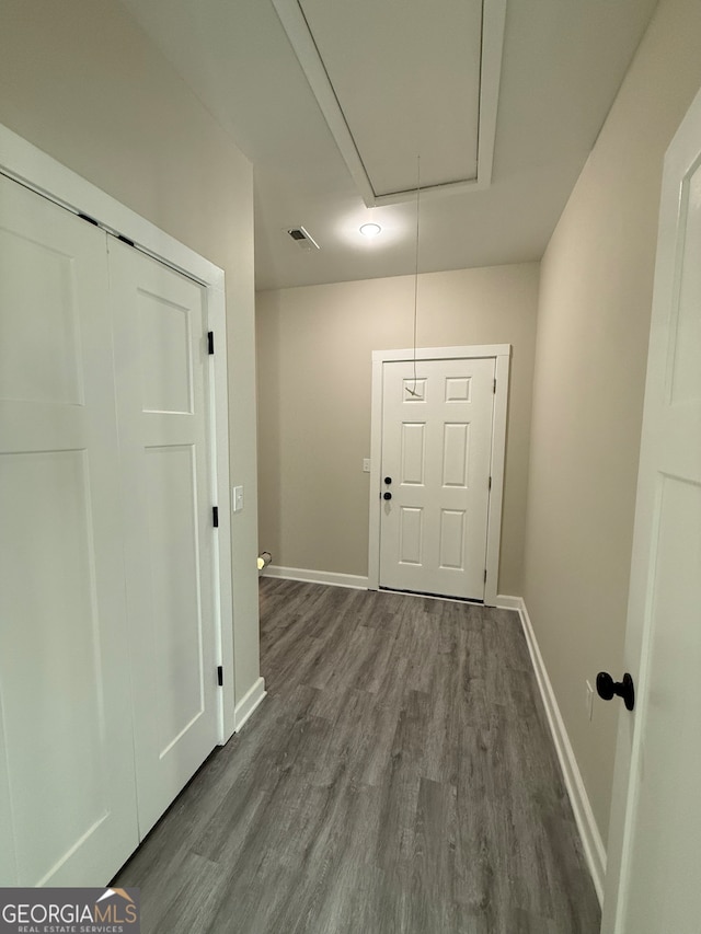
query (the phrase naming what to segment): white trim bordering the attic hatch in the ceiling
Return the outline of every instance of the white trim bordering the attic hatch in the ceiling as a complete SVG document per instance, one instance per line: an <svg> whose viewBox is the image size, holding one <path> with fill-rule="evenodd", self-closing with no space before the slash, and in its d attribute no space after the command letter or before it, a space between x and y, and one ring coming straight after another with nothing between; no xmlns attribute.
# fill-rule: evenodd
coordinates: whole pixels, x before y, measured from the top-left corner
<svg viewBox="0 0 701 934"><path fill-rule="evenodd" d="M489 188L492 183L506 2L482 0L476 173L445 184L422 185L422 195L461 194ZM415 198L415 187L389 194L376 192L300 0L273 0L273 4L366 206L400 204Z"/></svg>

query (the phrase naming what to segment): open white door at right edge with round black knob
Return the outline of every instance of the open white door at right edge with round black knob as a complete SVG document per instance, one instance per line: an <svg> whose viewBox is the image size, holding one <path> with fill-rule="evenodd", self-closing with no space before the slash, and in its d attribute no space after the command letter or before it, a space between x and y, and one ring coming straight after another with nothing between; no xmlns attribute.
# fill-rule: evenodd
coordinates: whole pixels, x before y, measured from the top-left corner
<svg viewBox="0 0 701 934"><path fill-rule="evenodd" d="M602 930L697 934L701 93L665 161L625 652L637 704L632 747L631 714L621 714Z"/></svg>

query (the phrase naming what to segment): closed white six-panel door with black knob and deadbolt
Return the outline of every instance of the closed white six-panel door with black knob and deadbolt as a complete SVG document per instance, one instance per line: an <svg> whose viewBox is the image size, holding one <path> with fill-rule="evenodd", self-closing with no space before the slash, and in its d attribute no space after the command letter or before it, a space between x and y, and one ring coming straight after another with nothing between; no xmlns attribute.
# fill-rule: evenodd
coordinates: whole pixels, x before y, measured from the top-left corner
<svg viewBox="0 0 701 934"><path fill-rule="evenodd" d="M482 600L494 358L383 364L381 587Z"/></svg>

